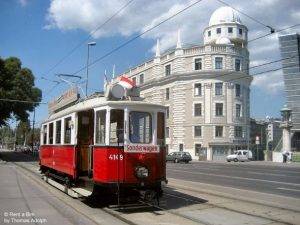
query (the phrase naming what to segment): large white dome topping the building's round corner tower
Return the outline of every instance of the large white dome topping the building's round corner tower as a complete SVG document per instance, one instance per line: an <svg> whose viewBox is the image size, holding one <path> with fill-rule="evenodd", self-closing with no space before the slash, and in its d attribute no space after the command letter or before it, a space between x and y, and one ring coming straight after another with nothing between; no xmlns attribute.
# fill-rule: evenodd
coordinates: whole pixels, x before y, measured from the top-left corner
<svg viewBox="0 0 300 225"><path fill-rule="evenodd" d="M209 20L209 26L218 25L222 23L239 23L242 21L240 19L239 13L235 11L233 8L224 6L218 8L211 15Z"/></svg>

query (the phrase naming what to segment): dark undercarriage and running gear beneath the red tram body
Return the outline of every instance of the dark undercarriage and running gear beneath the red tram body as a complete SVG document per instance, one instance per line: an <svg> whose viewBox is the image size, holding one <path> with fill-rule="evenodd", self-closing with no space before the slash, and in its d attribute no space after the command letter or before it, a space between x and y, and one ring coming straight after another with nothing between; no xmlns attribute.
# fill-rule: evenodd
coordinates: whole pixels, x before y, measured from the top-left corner
<svg viewBox="0 0 300 225"><path fill-rule="evenodd" d="M101 199L103 203L121 206L137 203L141 200L144 202L156 201L156 203L159 204L159 198L163 195L161 187L162 181L157 181L155 184L145 184L141 181L138 185L117 182L102 184L95 183L87 176L74 180L66 174L43 166L40 167L40 170L43 174L43 179L47 183L74 198L92 197Z"/></svg>

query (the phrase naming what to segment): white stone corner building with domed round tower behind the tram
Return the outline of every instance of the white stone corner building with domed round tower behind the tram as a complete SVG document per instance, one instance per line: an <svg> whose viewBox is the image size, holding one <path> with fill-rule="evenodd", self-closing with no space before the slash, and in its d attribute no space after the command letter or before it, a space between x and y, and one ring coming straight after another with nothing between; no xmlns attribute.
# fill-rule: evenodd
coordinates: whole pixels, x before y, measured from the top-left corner
<svg viewBox="0 0 300 225"><path fill-rule="evenodd" d="M199 31L199 35L200 35ZM168 106L166 144L194 159L224 160L247 148L250 123L248 29L236 11L221 7L204 29L204 45L176 48L131 68L147 101Z"/></svg>

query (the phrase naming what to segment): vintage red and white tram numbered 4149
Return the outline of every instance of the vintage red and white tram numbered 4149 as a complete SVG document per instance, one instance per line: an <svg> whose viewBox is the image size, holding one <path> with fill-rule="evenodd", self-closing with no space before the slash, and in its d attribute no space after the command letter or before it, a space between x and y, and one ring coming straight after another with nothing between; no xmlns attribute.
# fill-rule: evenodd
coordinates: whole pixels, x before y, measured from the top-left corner
<svg viewBox="0 0 300 225"><path fill-rule="evenodd" d="M61 105L62 98L59 101ZM41 127L43 173L90 193L104 189L111 194L133 189L162 193L164 106L94 94L53 111Z"/></svg>

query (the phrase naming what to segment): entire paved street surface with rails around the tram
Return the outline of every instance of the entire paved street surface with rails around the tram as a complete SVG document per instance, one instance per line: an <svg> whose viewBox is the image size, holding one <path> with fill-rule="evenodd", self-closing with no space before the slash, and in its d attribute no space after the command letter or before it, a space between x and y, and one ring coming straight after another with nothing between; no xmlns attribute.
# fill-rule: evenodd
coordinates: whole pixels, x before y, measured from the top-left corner
<svg viewBox="0 0 300 225"><path fill-rule="evenodd" d="M281 170L285 172L281 173ZM248 176L248 172L251 176ZM254 174L265 173L267 176L268 173L276 173L278 176L285 176L292 172L299 173L299 166L263 166L255 162L248 164L168 163L169 183L164 185L164 196L159 206L146 204L138 208L113 209L103 205L99 199L71 198L45 183L38 170L37 157L20 152L0 151L1 223L299 224L300 201L297 192L292 192L294 197L291 197L288 192L283 192L285 196L279 195L276 189L272 189L276 195L264 191L264 188L272 188L271 184L274 182L281 184L280 182L285 181L285 178L269 180L260 174ZM231 179L227 177L230 173L232 173ZM258 179L267 179L267 181L258 181ZM292 183L295 187L299 185L298 178L287 179L286 182ZM244 180L248 183L244 183ZM253 181L259 183L257 189L255 185L249 185ZM225 195L233 190L232 197L220 195L220 192L216 191L218 188ZM259 190L259 192L252 190ZM242 195L245 195L244 200L239 199Z"/></svg>

